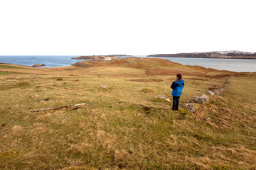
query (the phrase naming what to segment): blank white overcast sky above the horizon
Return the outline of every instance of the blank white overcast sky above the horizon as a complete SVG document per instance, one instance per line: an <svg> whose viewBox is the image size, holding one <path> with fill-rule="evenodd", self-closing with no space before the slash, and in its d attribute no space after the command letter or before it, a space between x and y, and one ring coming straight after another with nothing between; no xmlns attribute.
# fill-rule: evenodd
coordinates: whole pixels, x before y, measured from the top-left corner
<svg viewBox="0 0 256 170"><path fill-rule="evenodd" d="M0 55L256 52L255 0L0 0Z"/></svg>

